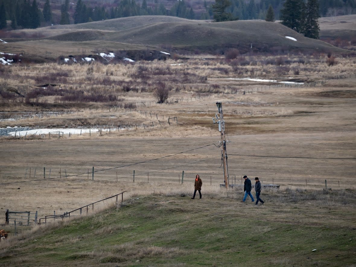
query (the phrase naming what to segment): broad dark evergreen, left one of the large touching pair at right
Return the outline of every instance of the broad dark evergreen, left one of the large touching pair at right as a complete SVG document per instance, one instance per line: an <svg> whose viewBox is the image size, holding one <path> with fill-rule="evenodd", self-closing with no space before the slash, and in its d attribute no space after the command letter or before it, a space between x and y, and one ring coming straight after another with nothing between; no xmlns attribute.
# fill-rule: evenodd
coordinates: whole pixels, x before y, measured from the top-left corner
<svg viewBox="0 0 356 267"><path fill-rule="evenodd" d="M286 0L281 9L281 23L294 31L303 30L303 0Z"/></svg>

